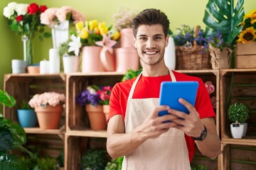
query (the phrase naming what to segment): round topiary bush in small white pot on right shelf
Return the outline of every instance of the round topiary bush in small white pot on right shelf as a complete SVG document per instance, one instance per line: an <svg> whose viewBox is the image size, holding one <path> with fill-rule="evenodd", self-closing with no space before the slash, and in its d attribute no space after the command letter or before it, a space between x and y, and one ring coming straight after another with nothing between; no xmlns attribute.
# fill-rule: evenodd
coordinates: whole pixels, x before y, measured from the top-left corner
<svg viewBox="0 0 256 170"><path fill-rule="evenodd" d="M249 108L244 103L233 103L230 105L228 108L228 119L231 122L230 129L233 138L240 139L246 134L247 125L244 123L249 117Z"/></svg>

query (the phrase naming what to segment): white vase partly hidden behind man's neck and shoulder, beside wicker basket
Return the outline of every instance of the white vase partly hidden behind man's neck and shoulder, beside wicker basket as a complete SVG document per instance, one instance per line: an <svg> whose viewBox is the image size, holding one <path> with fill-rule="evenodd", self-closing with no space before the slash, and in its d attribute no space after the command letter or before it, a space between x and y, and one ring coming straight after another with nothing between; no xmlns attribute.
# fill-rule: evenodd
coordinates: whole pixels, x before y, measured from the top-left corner
<svg viewBox="0 0 256 170"><path fill-rule="evenodd" d="M169 37L169 44L165 48L164 62L166 64L166 67L168 67L169 69L175 69L176 55L175 55L174 38Z"/></svg>

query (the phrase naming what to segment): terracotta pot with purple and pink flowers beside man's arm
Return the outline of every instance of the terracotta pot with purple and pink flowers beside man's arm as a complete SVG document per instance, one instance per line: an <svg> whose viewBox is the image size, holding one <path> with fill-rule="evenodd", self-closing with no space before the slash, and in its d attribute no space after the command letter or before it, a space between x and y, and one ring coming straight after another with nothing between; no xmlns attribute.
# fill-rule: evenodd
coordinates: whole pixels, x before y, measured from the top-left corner
<svg viewBox="0 0 256 170"><path fill-rule="evenodd" d="M80 106L85 106L92 130L106 130L107 128L102 104L108 101L106 96L108 91L108 88L100 88L96 85L87 86L87 88L75 98L76 103L80 104Z"/></svg>

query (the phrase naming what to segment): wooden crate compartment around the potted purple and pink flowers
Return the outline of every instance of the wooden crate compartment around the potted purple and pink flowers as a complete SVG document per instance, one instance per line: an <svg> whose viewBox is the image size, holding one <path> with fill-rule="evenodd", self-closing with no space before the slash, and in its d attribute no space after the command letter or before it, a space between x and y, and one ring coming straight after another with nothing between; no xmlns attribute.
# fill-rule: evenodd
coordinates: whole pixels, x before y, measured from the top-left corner
<svg viewBox="0 0 256 170"><path fill-rule="evenodd" d="M88 115L85 112L85 107L75 103L75 97L78 96L84 89L86 89L87 86L92 84L96 84L98 86L114 86L114 84L121 81L123 75L124 74L117 72L68 74L67 98L69 98L69 100L68 103L66 103L66 113L68 113L66 118L67 131L90 130L90 123Z"/></svg>

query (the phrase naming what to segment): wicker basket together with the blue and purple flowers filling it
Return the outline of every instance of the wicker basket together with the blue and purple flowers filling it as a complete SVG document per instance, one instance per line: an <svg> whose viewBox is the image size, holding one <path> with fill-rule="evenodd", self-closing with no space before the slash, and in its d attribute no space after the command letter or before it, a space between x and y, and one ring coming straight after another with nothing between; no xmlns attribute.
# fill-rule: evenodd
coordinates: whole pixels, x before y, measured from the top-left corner
<svg viewBox="0 0 256 170"><path fill-rule="evenodd" d="M206 31L182 25L174 34L176 69L210 69L210 55L204 48Z"/></svg>

